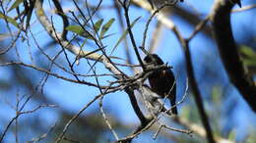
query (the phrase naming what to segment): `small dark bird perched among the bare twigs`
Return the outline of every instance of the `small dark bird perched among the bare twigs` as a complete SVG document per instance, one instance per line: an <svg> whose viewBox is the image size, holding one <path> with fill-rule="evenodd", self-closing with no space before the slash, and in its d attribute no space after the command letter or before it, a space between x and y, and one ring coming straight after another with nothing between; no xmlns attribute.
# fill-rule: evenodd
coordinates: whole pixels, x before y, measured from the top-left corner
<svg viewBox="0 0 256 143"><path fill-rule="evenodd" d="M148 54L144 58L144 63L147 65L161 66L164 63L157 54ZM171 113L177 115L176 106L176 83L173 72L169 70L153 71L148 76L150 86L153 92L157 93L161 98L168 96L171 105Z"/></svg>

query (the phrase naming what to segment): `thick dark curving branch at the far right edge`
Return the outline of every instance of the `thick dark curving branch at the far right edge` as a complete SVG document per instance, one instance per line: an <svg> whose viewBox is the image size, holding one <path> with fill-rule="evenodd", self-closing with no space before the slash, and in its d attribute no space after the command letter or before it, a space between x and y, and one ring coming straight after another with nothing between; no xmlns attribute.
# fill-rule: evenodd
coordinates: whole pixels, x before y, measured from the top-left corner
<svg viewBox="0 0 256 143"><path fill-rule="evenodd" d="M248 76L240 60L230 24L230 13L234 4L226 0L216 0L212 10L214 35L224 68L233 85L240 92L251 109L256 112L256 86Z"/></svg>

